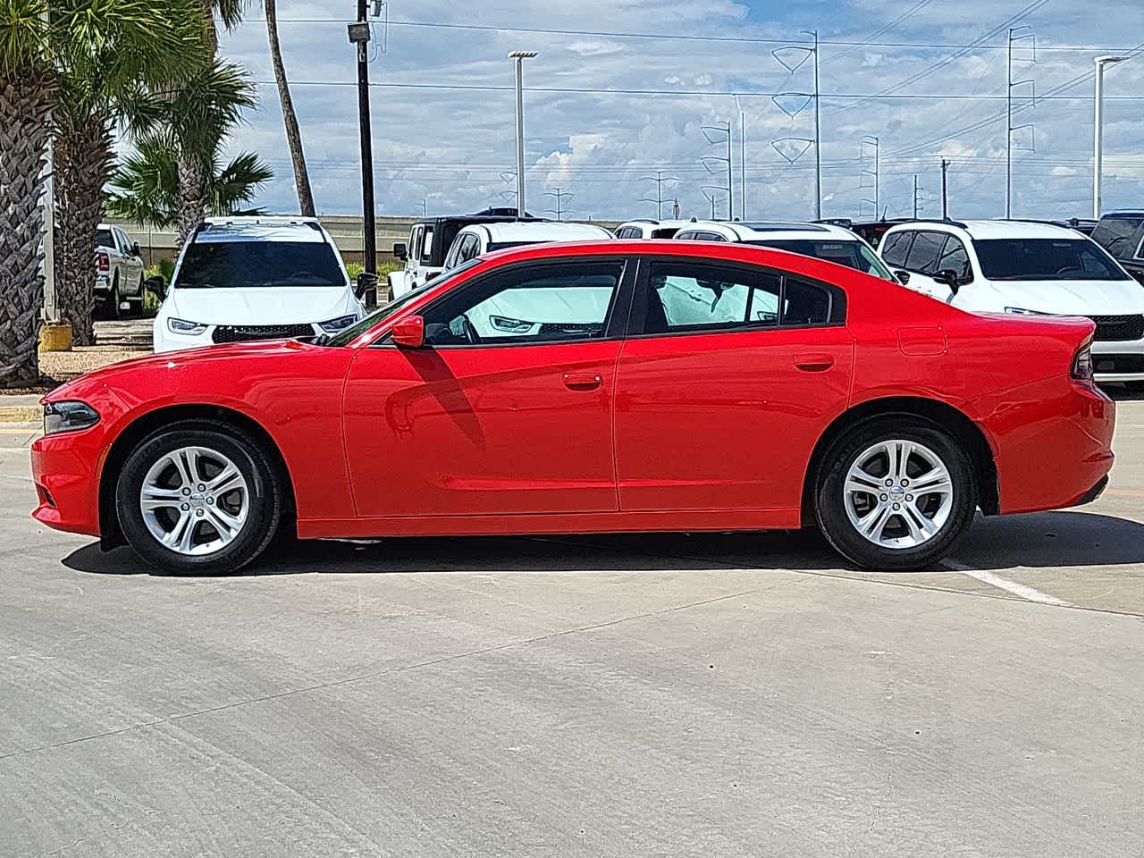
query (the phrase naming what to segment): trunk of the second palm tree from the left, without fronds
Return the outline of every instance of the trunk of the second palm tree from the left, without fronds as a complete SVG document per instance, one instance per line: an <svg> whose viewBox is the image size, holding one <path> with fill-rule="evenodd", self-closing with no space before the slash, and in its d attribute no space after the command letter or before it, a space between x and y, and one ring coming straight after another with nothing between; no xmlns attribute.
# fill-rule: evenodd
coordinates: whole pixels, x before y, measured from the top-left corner
<svg viewBox="0 0 1144 858"><path fill-rule="evenodd" d="M95 230L103 216L103 188L111 177L111 132L100 117L77 121L57 114L51 150L56 305L77 345L95 343Z"/></svg>

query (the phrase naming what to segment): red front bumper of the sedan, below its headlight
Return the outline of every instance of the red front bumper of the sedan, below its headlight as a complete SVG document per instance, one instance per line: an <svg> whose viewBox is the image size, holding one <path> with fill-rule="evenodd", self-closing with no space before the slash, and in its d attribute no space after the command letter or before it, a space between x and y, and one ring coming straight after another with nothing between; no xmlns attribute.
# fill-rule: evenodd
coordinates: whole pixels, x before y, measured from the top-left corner
<svg viewBox="0 0 1144 858"><path fill-rule="evenodd" d="M100 535L100 426L61 432L32 444L32 479L39 505L32 518L53 530Z"/></svg>

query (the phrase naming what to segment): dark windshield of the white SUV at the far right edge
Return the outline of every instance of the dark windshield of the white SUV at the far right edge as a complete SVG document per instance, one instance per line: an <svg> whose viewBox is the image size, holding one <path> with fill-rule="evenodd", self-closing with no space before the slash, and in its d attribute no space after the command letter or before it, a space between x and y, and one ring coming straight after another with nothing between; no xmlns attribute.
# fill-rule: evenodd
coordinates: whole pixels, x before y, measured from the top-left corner
<svg viewBox="0 0 1144 858"><path fill-rule="evenodd" d="M1128 276L1087 238L991 238L974 243L990 280L1125 280Z"/></svg>

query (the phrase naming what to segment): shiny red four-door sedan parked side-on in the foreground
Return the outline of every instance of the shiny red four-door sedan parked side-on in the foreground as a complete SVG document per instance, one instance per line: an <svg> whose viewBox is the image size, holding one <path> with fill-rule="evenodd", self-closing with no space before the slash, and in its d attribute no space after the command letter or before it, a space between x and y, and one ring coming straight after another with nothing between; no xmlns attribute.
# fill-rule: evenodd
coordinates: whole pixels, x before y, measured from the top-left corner
<svg viewBox="0 0 1144 858"><path fill-rule="evenodd" d="M764 248L509 249L339 334L129 360L45 398L51 527L160 570L303 539L816 525L874 569L1112 466L1093 323L985 318Z"/></svg>

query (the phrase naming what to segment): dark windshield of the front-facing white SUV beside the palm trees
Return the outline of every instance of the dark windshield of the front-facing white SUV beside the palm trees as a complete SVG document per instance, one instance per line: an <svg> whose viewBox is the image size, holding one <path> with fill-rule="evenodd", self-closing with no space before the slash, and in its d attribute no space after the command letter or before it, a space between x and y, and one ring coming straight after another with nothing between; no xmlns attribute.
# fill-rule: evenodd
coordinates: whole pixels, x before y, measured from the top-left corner
<svg viewBox="0 0 1144 858"><path fill-rule="evenodd" d="M173 286L181 289L344 286L325 241L205 241L190 245Z"/></svg>

